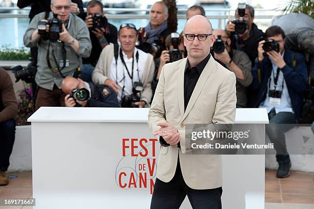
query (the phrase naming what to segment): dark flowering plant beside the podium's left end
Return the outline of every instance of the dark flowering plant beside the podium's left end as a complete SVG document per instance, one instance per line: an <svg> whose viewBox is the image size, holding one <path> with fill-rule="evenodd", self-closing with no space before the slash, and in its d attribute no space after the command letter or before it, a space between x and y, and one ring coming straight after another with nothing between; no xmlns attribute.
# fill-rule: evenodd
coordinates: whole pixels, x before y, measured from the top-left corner
<svg viewBox="0 0 314 209"><path fill-rule="evenodd" d="M17 125L30 125L27 119L34 113L33 92L30 84L18 91Z"/></svg>

